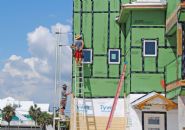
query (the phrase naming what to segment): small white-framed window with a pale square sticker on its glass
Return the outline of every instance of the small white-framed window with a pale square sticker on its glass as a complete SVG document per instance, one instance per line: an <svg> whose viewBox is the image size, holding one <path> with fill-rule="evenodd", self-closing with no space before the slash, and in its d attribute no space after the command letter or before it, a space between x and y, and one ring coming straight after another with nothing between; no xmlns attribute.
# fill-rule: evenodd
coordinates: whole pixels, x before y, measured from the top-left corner
<svg viewBox="0 0 185 130"><path fill-rule="evenodd" d="M120 49L109 49L109 64L120 64Z"/></svg>

